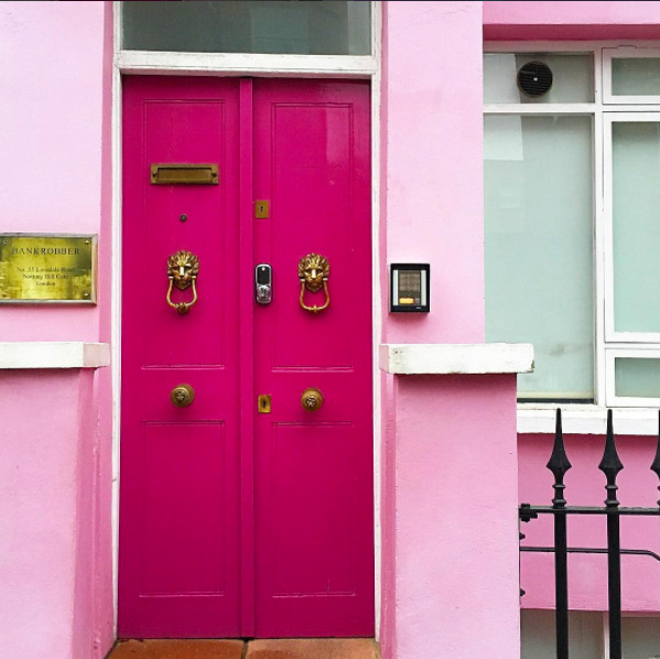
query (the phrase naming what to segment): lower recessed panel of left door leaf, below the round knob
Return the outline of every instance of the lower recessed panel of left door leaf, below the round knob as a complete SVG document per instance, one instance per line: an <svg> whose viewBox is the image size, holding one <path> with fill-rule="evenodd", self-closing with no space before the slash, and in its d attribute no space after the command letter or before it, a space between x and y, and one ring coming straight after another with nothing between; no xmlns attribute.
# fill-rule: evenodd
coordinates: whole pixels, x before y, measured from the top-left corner
<svg viewBox="0 0 660 659"><path fill-rule="evenodd" d="M224 424L145 423L143 430L141 593L221 595L227 579L221 559L225 520L209 517L207 508L225 508ZM190 474L195 474L193 484ZM173 530L185 541L172 542Z"/></svg>

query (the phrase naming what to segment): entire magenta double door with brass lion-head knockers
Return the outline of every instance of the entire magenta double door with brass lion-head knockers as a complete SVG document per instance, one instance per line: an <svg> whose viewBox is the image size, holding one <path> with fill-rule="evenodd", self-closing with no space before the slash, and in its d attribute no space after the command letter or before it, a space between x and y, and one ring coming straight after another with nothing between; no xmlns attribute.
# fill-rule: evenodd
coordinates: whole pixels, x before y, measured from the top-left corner
<svg viewBox="0 0 660 659"><path fill-rule="evenodd" d="M126 78L120 637L374 634L369 142L364 82Z"/></svg>

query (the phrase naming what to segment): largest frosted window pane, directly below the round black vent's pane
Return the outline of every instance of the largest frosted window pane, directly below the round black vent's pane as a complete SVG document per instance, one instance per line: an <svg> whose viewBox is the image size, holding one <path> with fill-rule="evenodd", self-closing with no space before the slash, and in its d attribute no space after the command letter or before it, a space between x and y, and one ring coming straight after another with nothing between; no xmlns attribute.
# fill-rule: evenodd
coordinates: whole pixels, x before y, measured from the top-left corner
<svg viewBox="0 0 660 659"><path fill-rule="evenodd" d="M486 117L486 339L534 345L520 398L593 399L591 117Z"/></svg>

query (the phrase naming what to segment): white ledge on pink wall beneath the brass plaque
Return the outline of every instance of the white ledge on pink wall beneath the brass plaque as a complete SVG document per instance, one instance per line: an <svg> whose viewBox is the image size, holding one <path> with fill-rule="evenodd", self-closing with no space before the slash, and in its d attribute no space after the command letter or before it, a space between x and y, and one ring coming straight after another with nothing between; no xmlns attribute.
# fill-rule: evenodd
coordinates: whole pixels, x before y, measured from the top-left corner
<svg viewBox="0 0 660 659"><path fill-rule="evenodd" d="M0 370L36 368L100 368L110 364L107 343L4 342L0 343Z"/></svg>

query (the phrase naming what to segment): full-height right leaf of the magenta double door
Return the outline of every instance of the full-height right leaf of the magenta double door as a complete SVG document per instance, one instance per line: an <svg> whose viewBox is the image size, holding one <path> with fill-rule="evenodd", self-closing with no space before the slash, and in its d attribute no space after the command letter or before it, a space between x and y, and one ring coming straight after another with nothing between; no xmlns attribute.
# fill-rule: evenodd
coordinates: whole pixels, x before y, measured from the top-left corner
<svg viewBox="0 0 660 659"><path fill-rule="evenodd" d="M256 262L273 268L255 310L258 636L374 634L369 86L256 80ZM329 260L331 304L301 309L297 264ZM307 305L323 290L305 291ZM305 388L325 401L305 411Z"/></svg>

